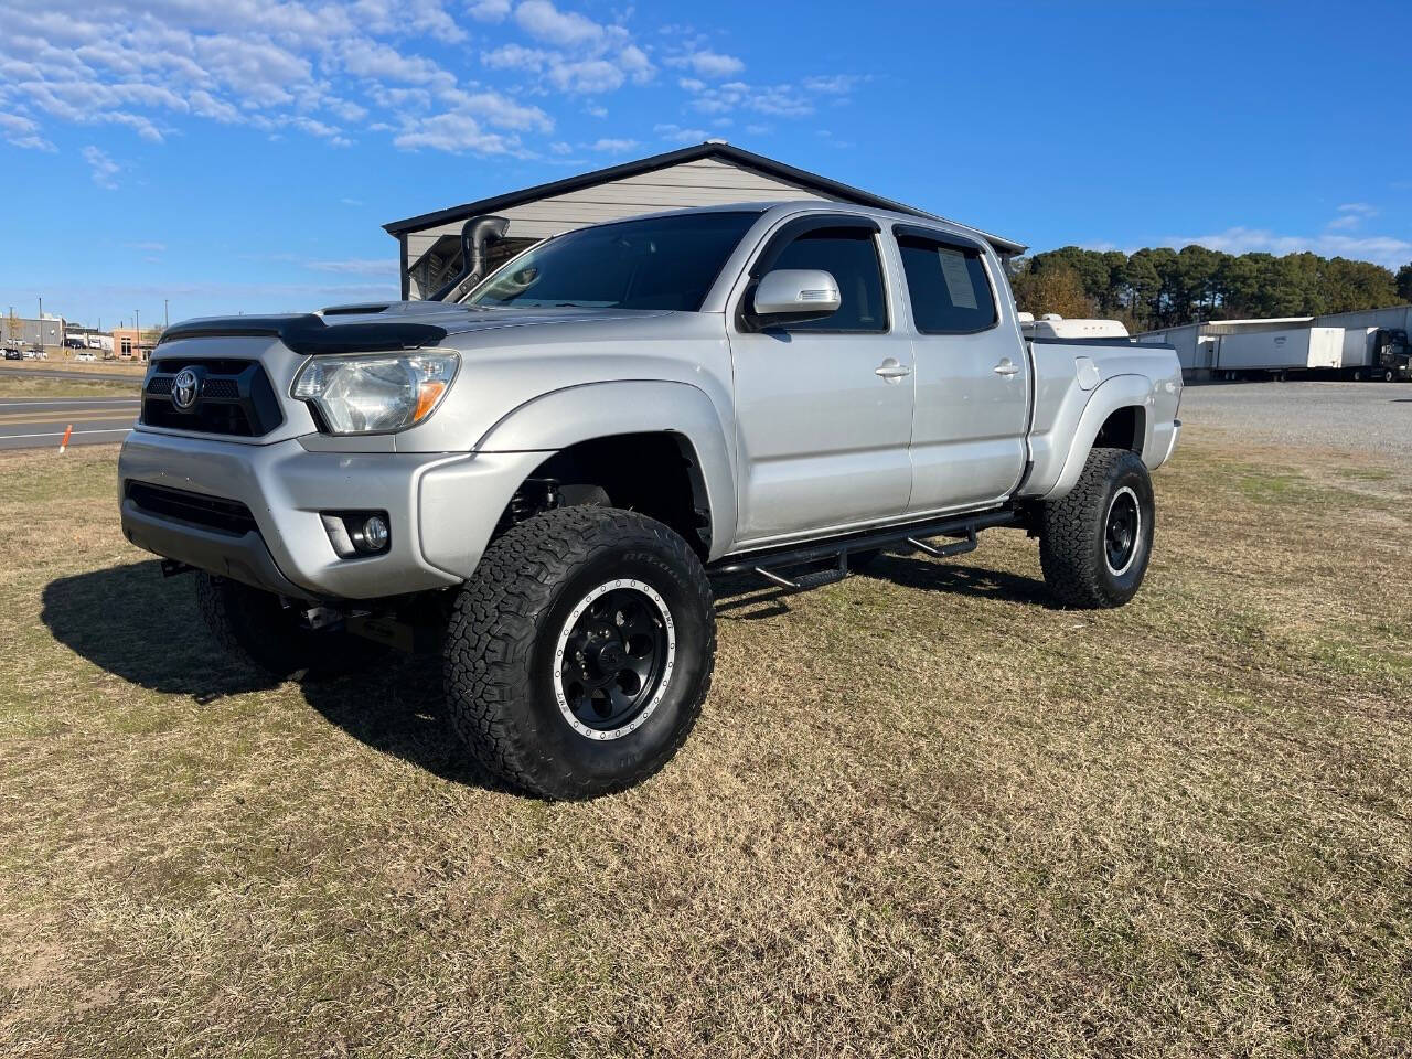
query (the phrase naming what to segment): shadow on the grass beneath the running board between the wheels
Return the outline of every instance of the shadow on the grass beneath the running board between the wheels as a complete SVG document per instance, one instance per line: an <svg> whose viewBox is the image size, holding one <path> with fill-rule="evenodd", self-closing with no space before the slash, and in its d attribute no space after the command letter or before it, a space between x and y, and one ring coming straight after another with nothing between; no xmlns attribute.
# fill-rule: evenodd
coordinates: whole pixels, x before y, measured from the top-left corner
<svg viewBox="0 0 1412 1059"><path fill-rule="evenodd" d="M880 555L867 569L853 576L890 580L908 589L947 592L977 599L1008 600L1029 606L1053 607L1045 583L1004 570L962 566L955 562L928 562L912 555ZM758 621L789 610L794 589L762 583L758 575L730 575L714 579L716 613L731 621Z"/></svg>

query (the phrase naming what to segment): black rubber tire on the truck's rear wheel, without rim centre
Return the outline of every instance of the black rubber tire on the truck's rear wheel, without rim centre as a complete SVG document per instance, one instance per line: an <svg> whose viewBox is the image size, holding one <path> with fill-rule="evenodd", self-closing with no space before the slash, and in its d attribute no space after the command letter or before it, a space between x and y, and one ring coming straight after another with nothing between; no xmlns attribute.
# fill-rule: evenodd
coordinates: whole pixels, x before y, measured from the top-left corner
<svg viewBox="0 0 1412 1059"><path fill-rule="evenodd" d="M1135 498L1139 522L1131 562L1115 570L1107 558L1107 520L1124 490ZM1132 599L1152 558L1155 511L1141 457L1127 449L1093 449L1075 487L1041 510L1039 565L1055 600L1093 610Z"/></svg>

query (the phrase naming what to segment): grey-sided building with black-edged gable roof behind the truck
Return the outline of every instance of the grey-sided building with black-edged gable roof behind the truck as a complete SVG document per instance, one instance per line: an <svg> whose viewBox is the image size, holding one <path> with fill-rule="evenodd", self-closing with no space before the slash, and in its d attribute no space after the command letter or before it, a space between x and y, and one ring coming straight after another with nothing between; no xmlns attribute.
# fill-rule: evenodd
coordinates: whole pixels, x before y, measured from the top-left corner
<svg viewBox="0 0 1412 1059"><path fill-rule="evenodd" d="M884 199L847 184L796 169L724 140L640 158L580 176L541 184L460 206L394 220L383 229L401 247L402 298L431 298L467 273L467 225L503 217L508 227L484 247L481 273L490 271L541 239L607 220L661 213L685 206L733 202L819 199L856 202L935 219L914 206ZM1025 247L987 236L1003 257Z"/></svg>

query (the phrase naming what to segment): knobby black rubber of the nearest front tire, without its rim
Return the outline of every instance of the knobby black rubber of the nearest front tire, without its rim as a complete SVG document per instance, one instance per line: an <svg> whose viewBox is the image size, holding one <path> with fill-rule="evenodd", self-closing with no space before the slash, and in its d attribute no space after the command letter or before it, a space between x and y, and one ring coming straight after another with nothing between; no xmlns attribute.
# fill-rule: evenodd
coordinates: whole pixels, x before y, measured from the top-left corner
<svg viewBox="0 0 1412 1059"><path fill-rule="evenodd" d="M561 709L555 651L576 604L626 579L665 602L675 662L640 727L590 738ZM497 538L460 590L443 655L448 716L501 782L539 798L593 798L647 779L676 754L700 714L714 657L710 582L686 541L633 511L555 508Z"/></svg>

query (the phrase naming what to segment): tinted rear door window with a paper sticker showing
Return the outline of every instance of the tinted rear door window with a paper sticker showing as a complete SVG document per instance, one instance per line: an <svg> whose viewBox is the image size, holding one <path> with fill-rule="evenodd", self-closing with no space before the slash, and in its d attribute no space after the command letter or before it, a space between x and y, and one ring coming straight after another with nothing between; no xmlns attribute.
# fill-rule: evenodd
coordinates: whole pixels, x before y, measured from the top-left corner
<svg viewBox="0 0 1412 1059"><path fill-rule="evenodd" d="M995 326L995 295L979 247L902 233L897 246L919 332L971 335Z"/></svg>

